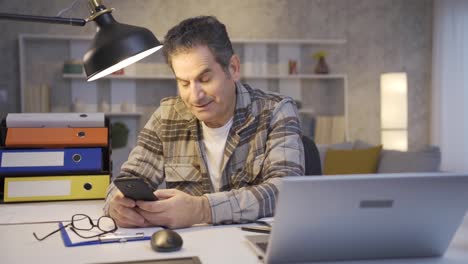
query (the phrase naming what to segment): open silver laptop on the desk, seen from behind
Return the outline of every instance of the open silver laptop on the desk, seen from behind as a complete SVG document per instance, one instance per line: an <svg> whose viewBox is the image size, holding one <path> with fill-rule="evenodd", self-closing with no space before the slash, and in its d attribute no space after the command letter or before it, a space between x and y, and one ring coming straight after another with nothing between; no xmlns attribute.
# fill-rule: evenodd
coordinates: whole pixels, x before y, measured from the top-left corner
<svg viewBox="0 0 468 264"><path fill-rule="evenodd" d="M468 209L468 174L298 176L282 180L265 263L436 257Z"/></svg>

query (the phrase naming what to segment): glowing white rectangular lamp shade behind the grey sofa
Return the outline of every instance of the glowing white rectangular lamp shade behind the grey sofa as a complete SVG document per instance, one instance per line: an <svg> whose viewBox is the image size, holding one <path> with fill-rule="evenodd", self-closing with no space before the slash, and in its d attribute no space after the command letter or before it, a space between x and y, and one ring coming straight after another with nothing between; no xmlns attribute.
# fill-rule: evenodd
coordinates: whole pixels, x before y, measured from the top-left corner
<svg viewBox="0 0 468 264"><path fill-rule="evenodd" d="M380 77L382 144L386 149L408 149L408 81L406 73Z"/></svg>

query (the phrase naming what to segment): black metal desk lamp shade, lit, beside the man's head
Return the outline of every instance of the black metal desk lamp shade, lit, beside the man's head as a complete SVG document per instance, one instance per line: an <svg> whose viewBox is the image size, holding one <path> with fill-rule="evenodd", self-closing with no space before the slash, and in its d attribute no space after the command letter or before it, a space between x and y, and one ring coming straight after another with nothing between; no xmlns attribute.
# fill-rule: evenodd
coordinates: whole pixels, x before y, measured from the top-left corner
<svg viewBox="0 0 468 264"><path fill-rule="evenodd" d="M95 19L97 33L83 58L87 80L120 70L162 48L146 28L121 24L110 13Z"/></svg>

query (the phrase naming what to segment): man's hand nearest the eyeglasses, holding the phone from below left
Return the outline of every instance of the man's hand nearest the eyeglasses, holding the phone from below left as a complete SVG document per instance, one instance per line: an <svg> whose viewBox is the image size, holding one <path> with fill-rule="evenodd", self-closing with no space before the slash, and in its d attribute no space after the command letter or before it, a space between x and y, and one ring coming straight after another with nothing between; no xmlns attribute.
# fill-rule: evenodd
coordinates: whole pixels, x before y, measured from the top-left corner
<svg viewBox="0 0 468 264"><path fill-rule="evenodd" d="M109 215L120 227L145 227L150 224L136 210L136 202L126 198L120 191L112 197Z"/></svg>

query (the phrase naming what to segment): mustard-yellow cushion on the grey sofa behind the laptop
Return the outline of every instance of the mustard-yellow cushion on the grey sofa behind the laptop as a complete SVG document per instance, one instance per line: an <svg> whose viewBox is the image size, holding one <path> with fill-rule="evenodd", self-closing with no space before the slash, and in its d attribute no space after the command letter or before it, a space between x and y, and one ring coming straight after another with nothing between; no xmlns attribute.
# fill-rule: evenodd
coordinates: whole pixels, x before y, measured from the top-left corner
<svg viewBox="0 0 468 264"><path fill-rule="evenodd" d="M323 174L376 173L382 145L367 149L329 149Z"/></svg>

